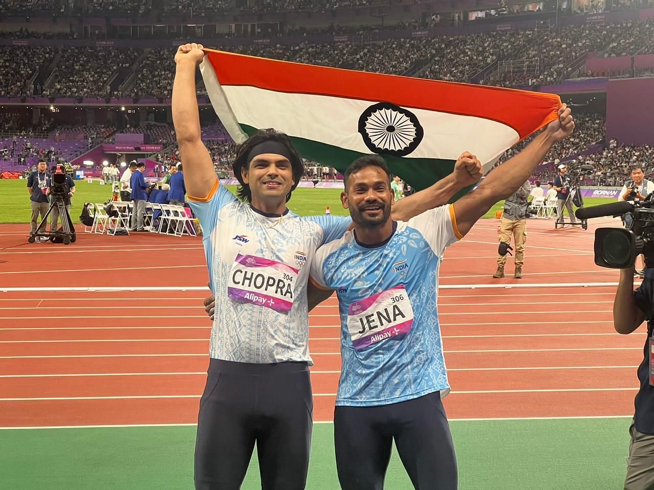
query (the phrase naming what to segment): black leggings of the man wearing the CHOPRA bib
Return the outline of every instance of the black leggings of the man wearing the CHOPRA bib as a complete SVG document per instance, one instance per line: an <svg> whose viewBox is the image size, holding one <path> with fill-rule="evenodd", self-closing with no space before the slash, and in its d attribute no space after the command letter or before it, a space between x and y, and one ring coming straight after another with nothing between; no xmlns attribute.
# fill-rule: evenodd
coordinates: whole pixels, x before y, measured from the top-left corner
<svg viewBox="0 0 654 490"><path fill-rule="evenodd" d="M302 490L313 399L307 363L211 359L200 399L196 490L241 487L256 441L263 490Z"/></svg>

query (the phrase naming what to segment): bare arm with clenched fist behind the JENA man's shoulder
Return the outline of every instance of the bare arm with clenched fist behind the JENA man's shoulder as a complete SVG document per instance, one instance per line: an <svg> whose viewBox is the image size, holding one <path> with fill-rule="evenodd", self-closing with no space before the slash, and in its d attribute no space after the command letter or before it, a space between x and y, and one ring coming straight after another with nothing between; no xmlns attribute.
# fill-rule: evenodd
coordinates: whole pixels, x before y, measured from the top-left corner
<svg viewBox="0 0 654 490"><path fill-rule="evenodd" d="M391 217L396 221L408 221L427 210L443 206L461 189L475 184L482 175L481 163L470 152L464 152L454 165L454 171L436 184L413 195L396 201Z"/></svg>

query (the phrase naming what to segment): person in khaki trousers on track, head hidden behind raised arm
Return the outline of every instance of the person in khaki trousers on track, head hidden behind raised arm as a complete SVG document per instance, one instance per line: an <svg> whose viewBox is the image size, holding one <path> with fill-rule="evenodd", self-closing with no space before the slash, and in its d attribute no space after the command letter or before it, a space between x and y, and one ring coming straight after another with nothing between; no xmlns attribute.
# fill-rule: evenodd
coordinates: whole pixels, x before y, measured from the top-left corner
<svg viewBox="0 0 654 490"><path fill-rule="evenodd" d="M515 273L516 279L523 278L523 263L525 263L525 243L527 241L527 216L529 214L527 198L531 192L531 184L527 180L517 191L511 194L504 201L504 213L500 224L500 244L510 244L511 235L515 243ZM500 245L502 248L502 245ZM500 252L497 257L497 270L492 275L494 278L504 277L504 266L506 265L506 249L504 254Z"/></svg>

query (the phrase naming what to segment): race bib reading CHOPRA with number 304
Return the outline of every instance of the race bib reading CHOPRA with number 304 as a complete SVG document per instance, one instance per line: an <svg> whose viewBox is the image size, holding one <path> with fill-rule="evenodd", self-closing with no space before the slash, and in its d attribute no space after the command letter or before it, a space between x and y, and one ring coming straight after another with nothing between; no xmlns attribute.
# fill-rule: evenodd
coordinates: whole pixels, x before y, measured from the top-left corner
<svg viewBox="0 0 654 490"><path fill-rule="evenodd" d="M298 269L263 257L236 255L227 294L233 301L258 304L280 313L293 306Z"/></svg>

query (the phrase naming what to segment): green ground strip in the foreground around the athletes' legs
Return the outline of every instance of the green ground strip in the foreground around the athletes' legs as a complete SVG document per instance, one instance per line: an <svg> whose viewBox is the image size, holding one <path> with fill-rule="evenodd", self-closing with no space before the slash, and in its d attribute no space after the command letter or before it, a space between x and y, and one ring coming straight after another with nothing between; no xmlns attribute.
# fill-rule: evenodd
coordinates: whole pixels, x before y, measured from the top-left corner
<svg viewBox="0 0 654 490"><path fill-rule="evenodd" d="M453 421L459 488L622 488L629 423L626 417ZM190 490L195 436L194 426L3 430L0 488ZM255 449L241 489L260 488ZM333 425L316 424L307 490L338 488ZM385 488L413 488L395 451Z"/></svg>

